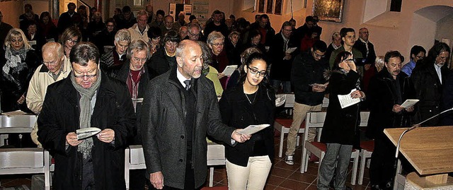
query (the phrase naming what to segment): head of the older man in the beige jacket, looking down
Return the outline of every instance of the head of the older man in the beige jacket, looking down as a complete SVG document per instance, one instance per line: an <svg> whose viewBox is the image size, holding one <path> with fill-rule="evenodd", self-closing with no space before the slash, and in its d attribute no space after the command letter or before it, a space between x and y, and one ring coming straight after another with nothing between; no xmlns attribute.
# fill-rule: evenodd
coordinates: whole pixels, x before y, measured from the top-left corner
<svg viewBox="0 0 453 190"><path fill-rule="evenodd" d="M48 42L42 46L42 62L47 66L51 73L58 74L64 62L64 52L62 44Z"/></svg>

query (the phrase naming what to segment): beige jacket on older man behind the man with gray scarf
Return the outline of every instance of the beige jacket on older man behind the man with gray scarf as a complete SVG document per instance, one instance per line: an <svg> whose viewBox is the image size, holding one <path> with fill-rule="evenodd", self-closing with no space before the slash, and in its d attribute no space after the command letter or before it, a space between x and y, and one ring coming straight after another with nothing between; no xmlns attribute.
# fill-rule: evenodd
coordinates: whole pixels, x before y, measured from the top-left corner
<svg viewBox="0 0 453 190"><path fill-rule="evenodd" d="M64 63L62 67L62 73L59 74L57 81L61 81L62 79L67 78L67 76L69 76L69 73L71 73L71 64L69 63L69 59L66 59L66 57L64 57ZM30 85L28 85L26 97L28 109L35 112L35 114L39 114L42 109L42 102L44 102L47 86L57 81L54 81L54 78L52 78L52 73L50 73L49 69L47 69L44 64L38 66L38 69L36 69L35 73L33 73L33 76L30 80ZM31 139L34 143L41 147L38 141L37 133L38 125L35 124L35 126L33 126L33 130L31 131Z"/></svg>

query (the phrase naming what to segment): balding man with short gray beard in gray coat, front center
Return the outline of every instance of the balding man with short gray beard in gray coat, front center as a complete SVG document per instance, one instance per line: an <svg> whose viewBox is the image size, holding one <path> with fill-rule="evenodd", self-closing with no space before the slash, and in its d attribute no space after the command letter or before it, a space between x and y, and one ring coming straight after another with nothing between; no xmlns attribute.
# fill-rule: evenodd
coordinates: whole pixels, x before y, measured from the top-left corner
<svg viewBox="0 0 453 190"><path fill-rule="evenodd" d="M178 67L154 78L144 97L142 141L150 189L205 184L207 135L229 145L250 138L222 124L214 85L202 76L200 45L183 40L176 52Z"/></svg>

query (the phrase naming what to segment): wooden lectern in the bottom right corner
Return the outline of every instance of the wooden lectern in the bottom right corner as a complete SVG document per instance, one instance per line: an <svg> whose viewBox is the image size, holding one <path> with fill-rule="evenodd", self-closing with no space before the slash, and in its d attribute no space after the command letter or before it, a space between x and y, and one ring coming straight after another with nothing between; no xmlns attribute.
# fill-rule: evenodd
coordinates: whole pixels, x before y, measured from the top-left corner
<svg viewBox="0 0 453 190"><path fill-rule="evenodd" d="M407 128L384 129L384 133L396 146L398 138ZM406 180L420 189L453 186L453 126L418 127L401 139L400 152L413 165L415 172Z"/></svg>

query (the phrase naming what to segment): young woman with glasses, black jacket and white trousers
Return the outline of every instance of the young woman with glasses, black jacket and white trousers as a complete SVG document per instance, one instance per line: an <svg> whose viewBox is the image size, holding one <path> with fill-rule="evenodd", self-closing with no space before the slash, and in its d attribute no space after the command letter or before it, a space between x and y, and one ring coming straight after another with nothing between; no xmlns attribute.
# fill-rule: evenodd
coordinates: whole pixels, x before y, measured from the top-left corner
<svg viewBox="0 0 453 190"><path fill-rule="evenodd" d="M270 124L246 143L225 146L229 189L264 189L274 155L275 93L268 83L263 54L254 53L242 65L238 85L224 91L219 101L222 121L243 129Z"/></svg>

